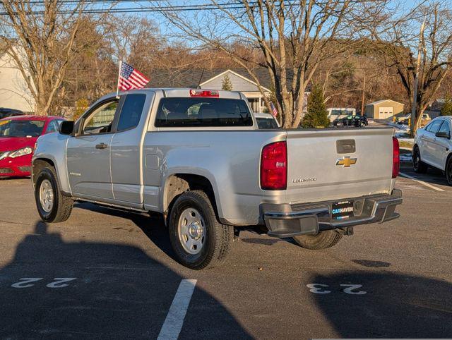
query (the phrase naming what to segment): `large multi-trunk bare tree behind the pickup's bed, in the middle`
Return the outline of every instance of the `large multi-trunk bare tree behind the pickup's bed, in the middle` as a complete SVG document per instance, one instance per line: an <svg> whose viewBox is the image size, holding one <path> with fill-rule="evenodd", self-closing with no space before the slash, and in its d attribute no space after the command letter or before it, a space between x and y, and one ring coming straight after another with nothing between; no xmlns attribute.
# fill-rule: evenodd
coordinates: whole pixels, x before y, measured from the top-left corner
<svg viewBox="0 0 452 340"><path fill-rule="evenodd" d="M363 24L373 25L386 4L385 0L242 0L239 5L237 1L211 2L216 9L208 13L164 14L186 36L224 51L246 68L262 94L254 70L266 68L285 128L299 126L304 92L319 64L350 48ZM257 53L239 54L231 48L232 42L248 44ZM263 99L270 108L268 98Z"/></svg>

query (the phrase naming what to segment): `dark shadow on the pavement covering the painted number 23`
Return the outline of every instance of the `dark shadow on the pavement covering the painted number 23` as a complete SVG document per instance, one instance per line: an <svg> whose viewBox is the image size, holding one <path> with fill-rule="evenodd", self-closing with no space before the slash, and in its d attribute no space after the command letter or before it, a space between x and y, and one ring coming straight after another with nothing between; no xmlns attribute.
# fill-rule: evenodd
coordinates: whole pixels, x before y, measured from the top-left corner
<svg viewBox="0 0 452 340"><path fill-rule="evenodd" d="M312 295L341 337L448 338L452 334L452 284L447 281L357 271L317 275L314 282L328 285L321 286L322 291L331 291ZM354 294L345 293L352 284L362 286L352 288Z"/></svg>

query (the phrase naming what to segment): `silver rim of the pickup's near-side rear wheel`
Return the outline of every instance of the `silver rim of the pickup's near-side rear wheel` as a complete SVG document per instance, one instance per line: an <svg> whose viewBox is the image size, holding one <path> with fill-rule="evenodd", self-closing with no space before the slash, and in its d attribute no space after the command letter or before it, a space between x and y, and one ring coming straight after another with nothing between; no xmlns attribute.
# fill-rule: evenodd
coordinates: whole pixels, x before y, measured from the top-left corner
<svg viewBox="0 0 452 340"><path fill-rule="evenodd" d="M187 253L196 255L201 252L206 241L206 223L198 210L187 208L182 212L177 224L177 233Z"/></svg>

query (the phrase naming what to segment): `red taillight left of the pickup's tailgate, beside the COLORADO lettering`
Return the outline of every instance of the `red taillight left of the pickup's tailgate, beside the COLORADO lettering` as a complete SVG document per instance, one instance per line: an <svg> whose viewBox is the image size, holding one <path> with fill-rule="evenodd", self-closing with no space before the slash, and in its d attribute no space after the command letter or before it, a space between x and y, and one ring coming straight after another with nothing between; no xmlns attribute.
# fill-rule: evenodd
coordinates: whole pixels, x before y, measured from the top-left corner
<svg viewBox="0 0 452 340"><path fill-rule="evenodd" d="M287 188L287 145L274 142L262 149L261 188L285 190Z"/></svg>

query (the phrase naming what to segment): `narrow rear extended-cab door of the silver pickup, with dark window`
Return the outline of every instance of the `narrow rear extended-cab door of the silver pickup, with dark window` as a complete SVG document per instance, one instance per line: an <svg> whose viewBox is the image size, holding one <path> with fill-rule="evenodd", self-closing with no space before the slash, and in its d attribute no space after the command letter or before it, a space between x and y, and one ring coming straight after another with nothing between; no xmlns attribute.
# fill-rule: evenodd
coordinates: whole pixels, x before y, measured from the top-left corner
<svg viewBox="0 0 452 340"><path fill-rule="evenodd" d="M147 130L152 92L129 93L115 120L112 138L112 185L114 200L121 205L143 207L142 147Z"/></svg>

